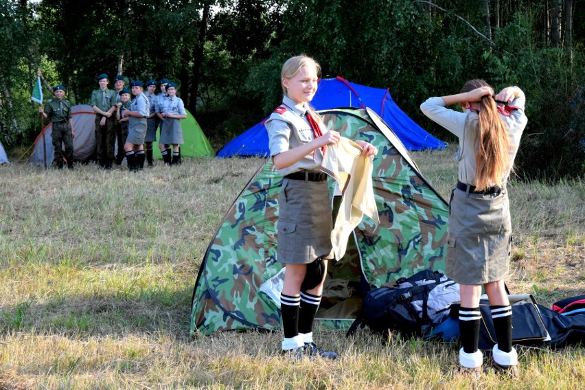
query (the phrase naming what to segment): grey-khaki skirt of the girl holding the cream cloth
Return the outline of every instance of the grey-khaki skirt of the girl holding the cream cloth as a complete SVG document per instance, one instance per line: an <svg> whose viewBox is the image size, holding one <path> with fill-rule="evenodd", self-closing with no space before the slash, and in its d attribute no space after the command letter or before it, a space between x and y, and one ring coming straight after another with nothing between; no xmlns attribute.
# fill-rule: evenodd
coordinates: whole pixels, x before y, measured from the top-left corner
<svg viewBox="0 0 585 390"><path fill-rule="evenodd" d="M332 258L331 198L327 181L284 179L278 197L277 260L309 264Z"/></svg>

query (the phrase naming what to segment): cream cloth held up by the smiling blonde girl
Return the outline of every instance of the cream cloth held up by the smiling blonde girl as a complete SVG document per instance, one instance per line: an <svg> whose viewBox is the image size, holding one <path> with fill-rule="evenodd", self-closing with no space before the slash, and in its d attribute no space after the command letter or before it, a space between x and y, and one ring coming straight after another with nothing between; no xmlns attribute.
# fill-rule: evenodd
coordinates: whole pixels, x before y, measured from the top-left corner
<svg viewBox="0 0 585 390"><path fill-rule="evenodd" d="M371 172L373 157L361 156L362 148L354 141L341 137L337 144L328 145L321 171L332 176L341 190L341 205L331 232L336 260L345 255L349 234L364 215L380 223L374 198Z"/></svg>

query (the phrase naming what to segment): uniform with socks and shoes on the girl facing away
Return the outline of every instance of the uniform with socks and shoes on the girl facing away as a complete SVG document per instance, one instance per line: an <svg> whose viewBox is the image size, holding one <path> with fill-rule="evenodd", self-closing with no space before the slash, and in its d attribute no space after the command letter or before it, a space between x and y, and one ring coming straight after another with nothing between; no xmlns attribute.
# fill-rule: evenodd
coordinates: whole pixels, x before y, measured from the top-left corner
<svg viewBox="0 0 585 390"><path fill-rule="evenodd" d="M524 113L526 98L518 89L511 104L497 106L509 140L509 169L512 168L520 137L528 122ZM420 106L422 112L459 138L457 151L457 186L449 202L449 231L445 261L446 275L463 285L500 282L509 273L512 223L506 188L492 185L477 190L477 150L479 112L472 106L465 113L446 108L443 98L429 98ZM488 293L488 295L490 295ZM492 297L490 297L490 302ZM492 305L490 312L497 344L492 349L492 367L496 371L518 376L518 352L512 347L512 308L509 304ZM481 374L483 354L477 347L481 311L477 307L459 310L459 369Z"/></svg>

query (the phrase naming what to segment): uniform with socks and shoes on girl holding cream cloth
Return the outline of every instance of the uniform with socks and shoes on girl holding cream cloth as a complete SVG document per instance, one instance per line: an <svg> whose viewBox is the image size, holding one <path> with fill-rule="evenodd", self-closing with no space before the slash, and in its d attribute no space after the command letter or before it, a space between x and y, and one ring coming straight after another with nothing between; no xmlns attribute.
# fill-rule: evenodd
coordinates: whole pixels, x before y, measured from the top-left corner
<svg viewBox="0 0 585 390"><path fill-rule="evenodd" d="M315 139L320 129L313 115L317 114L307 104L297 104L285 95L282 105L266 121L271 156ZM334 359L337 354L319 349L312 342L312 325L321 295L308 292L323 280L323 260L333 257L331 198L327 175L319 171L323 149L279 170L284 180L278 196L277 261L307 264L300 295L281 293L283 353L294 354L301 348L303 353Z"/></svg>

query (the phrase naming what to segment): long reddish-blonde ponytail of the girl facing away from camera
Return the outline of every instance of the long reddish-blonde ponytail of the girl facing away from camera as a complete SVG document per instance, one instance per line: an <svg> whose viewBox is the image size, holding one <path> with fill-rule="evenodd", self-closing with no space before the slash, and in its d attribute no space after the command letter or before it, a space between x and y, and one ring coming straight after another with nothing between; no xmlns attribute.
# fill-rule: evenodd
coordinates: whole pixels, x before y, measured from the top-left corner
<svg viewBox="0 0 585 390"><path fill-rule="evenodd" d="M488 86L483 80L470 80L463 85L461 92ZM503 180L512 168L509 161L509 139L507 126L498 113L495 100L485 95L479 102L477 124L477 190L485 190L492 185L503 187Z"/></svg>

